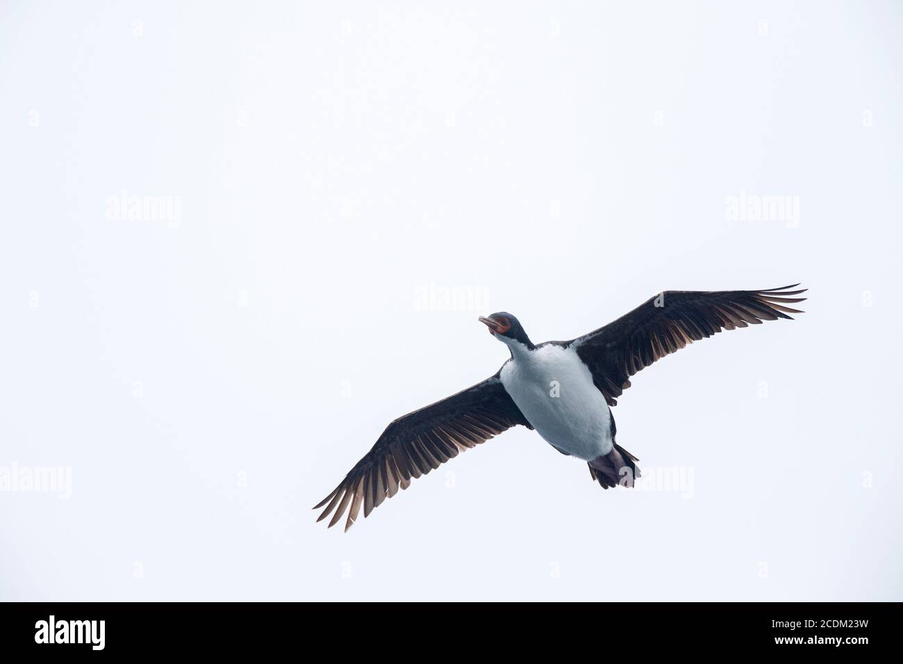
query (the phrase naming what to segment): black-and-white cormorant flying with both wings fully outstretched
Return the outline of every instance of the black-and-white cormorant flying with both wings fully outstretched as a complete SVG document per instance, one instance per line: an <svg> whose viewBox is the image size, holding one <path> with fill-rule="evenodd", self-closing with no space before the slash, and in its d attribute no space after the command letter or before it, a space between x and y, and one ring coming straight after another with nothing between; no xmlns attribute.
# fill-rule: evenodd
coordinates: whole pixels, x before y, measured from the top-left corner
<svg viewBox="0 0 903 664"><path fill-rule="evenodd" d="M799 284L757 291L665 291L618 320L571 341L535 344L510 313L479 317L511 357L488 379L401 416L326 498L314 506L347 512L345 530L407 489L412 478L439 468L459 453L512 426L534 429L562 454L590 467L603 489L633 486L638 458L615 442L611 407L630 377L688 343L749 323L793 320L788 304L805 297Z"/></svg>

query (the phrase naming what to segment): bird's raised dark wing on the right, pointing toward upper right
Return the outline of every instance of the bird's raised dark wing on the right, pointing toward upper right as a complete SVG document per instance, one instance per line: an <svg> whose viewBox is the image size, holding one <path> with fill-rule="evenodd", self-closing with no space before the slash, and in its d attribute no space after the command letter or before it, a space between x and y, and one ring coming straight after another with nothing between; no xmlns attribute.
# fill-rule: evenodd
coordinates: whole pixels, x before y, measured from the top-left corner
<svg viewBox="0 0 903 664"><path fill-rule="evenodd" d="M654 361L711 337L721 330L747 327L749 323L791 319L787 313L803 313L787 304L802 302L799 284L761 291L665 291L617 321L567 342L590 368L596 387L609 406L630 387L629 378Z"/></svg>

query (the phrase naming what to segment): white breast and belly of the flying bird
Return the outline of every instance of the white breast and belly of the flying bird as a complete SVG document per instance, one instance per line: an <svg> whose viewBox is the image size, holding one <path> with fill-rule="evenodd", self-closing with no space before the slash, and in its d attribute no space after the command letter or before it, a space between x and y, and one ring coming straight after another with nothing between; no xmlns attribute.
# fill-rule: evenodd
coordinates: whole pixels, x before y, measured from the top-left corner
<svg viewBox="0 0 903 664"><path fill-rule="evenodd" d="M611 451L611 414L590 369L571 348L517 351L499 378L546 442L590 461Z"/></svg>

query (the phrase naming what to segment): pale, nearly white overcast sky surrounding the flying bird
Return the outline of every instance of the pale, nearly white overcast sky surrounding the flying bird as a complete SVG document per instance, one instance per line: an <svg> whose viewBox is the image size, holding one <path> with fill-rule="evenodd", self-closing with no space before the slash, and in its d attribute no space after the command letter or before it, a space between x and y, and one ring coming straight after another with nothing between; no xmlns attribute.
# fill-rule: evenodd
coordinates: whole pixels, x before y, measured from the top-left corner
<svg viewBox="0 0 903 664"><path fill-rule="evenodd" d="M0 473L71 473L0 491L0 599L903 599L898 3L0 7ZM797 281L614 409L692 491L520 428L314 523L479 314Z"/></svg>

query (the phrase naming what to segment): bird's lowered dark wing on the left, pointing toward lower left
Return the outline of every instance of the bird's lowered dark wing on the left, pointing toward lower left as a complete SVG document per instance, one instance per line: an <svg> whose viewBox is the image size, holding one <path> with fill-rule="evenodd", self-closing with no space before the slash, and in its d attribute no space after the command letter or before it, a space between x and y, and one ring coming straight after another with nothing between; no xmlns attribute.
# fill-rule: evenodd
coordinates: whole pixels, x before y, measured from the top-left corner
<svg viewBox="0 0 903 664"><path fill-rule="evenodd" d="M407 489L412 477L420 477L506 429L529 426L520 409L508 396L498 373L467 388L399 417L379 436L377 444L355 464L330 495L314 506L326 509L317 519L330 520L330 528L348 510L345 529L358 518L361 503L364 517L398 488ZM328 504L327 504L328 503Z"/></svg>

